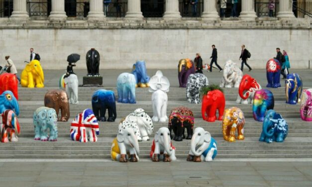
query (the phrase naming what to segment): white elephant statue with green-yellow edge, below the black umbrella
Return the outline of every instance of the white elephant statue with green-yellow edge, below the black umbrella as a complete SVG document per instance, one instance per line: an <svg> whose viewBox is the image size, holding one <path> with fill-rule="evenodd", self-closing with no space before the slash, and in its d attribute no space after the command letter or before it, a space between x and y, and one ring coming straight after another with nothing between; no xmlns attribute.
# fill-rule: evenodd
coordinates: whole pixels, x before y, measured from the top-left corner
<svg viewBox="0 0 312 187"><path fill-rule="evenodd" d="M78 77L75 74L70 74L64 78L65 90L69 96L69 103L79 104L78 101Z"/></svg>

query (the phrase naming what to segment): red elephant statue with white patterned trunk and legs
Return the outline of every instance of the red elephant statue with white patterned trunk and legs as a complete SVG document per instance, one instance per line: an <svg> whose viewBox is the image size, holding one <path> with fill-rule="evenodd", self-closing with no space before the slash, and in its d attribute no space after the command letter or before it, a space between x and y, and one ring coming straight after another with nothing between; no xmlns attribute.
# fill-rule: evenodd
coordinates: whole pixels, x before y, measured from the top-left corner
<svg viewBox="0 0 312 187"><path fill-rule="evenodd" d="M239 84L238 96L236 103L248 104L253 102L253 96L257 90L261 90L261 85L256 79L245 74Z"/></svg>

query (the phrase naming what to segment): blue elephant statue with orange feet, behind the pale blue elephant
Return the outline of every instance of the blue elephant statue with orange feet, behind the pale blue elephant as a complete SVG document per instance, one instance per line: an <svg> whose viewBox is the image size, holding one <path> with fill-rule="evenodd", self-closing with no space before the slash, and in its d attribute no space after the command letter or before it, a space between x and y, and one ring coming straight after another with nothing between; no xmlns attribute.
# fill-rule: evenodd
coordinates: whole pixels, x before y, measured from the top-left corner
<svg viewBox="0 0 312 187"><path fill-rule="evenodd" d="M136 61L133 64L132 72L135 77L135 87L146 88L149 87L149 76L146 73L145 61Z"/></svg>

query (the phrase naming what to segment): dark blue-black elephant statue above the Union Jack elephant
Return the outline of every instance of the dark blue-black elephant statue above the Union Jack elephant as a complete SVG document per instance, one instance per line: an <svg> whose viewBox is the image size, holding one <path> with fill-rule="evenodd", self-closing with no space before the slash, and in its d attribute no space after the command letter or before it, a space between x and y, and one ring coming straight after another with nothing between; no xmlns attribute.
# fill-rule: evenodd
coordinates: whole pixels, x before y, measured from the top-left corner
<svg viewBox="0 0 312 187"><path fill-rule="evenodd" d="M104 89L97 90L92 95L92 110L99 121L106 121L106 109L108 110L107 121L115 121L116 102L114 92Z"/></svg>

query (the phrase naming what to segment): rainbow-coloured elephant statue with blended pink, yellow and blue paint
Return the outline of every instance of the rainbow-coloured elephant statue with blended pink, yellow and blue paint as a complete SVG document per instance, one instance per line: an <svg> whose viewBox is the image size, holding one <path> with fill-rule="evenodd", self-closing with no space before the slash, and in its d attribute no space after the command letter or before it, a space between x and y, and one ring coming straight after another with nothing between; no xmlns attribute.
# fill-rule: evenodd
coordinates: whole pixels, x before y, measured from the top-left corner
<svg viewBox="0 0 312 187"><path fill-rule="evenodd" d="M274 95L267 89L255 92L253 96L252 113L257 121L263 121L267 110L274 109Z"/></svg>

